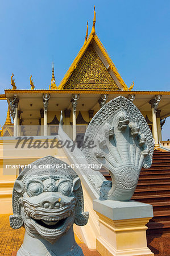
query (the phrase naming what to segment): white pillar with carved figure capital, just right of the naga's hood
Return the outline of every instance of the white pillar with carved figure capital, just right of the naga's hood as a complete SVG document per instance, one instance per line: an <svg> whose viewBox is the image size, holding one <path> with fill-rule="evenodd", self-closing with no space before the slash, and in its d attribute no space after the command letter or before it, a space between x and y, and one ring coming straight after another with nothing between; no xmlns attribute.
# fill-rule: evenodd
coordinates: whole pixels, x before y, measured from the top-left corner
<svg viewBox="0 0 170 256"><path fill-rule="evenodd" d="M157 133L157 121L156 121L156 111L159 104L159 101L161 100L160 95L156 95L155 99L150 100L151 108L152 108L152 123L153 123L153 137L155 139L155 148L159 147L159 141L158 141L158 133Z"/></svg>

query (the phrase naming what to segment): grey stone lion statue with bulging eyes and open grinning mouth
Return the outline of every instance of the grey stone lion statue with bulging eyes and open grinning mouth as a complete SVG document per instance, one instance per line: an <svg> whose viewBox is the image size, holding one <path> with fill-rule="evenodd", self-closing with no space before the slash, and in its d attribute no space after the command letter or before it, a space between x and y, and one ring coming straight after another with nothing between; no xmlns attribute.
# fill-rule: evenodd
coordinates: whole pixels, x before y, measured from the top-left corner
<svg viewBox="0 0 170 256"><path fill-rule="evenodd" d="M24 168L13 189L10 225L26 229L17 256L84 255L73 233L74 223L88 222L80 178L53 156L36 160L32 166L36 168Z"/></svg>

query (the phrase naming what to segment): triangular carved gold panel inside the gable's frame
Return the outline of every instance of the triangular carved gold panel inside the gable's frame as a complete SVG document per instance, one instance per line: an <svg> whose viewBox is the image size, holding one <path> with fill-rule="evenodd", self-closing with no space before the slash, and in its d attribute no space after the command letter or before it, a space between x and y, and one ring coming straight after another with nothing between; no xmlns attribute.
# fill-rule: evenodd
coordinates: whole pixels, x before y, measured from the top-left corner
<svg viewBox="0 0 170 256"><path fill-rule="evenodd" d="M102 60L90 45L63 89L119 90Z"/></svg>

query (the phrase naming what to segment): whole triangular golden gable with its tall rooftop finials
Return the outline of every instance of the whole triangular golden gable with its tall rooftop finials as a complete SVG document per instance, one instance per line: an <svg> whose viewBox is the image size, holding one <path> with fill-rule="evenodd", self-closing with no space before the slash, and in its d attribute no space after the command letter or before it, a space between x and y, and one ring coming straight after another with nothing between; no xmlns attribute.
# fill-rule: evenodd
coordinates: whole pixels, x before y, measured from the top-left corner
<svg viewBox="0 0 170 256"><path fill-rule="evenodd" d="M131 90L127 87L109 57L106 49L99 40L96 30L96 11L94 6L94 18L92 31L88 37L88 23L85 42L60 82L60 90Z"/></svg>

